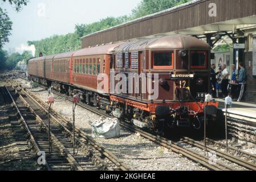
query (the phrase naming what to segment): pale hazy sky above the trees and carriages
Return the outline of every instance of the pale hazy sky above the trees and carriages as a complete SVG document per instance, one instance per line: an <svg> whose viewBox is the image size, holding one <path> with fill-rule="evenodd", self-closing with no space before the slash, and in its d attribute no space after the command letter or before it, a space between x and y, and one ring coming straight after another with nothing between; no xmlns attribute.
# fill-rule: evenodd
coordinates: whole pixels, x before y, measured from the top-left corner
<svg viewBox="0 0 256 182"><path fill-rule="evenodd" d="M40 40L52 35L75 31L75 24L93 23L107 16L131 14L141 0L30 0L19 13L9 3L0 1L6 9L13 30L4 49L10 52L30 50L29 40Z"/></svg>

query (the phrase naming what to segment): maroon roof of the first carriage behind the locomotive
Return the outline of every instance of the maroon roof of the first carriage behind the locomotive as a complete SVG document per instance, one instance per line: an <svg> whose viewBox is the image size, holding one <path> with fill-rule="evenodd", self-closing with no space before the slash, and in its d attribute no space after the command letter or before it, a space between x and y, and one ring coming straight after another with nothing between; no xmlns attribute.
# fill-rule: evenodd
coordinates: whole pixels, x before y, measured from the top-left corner
<svg viewBox="0 0 256 182"><path fill-rule="evenodd" d="M107 44L104 46L83 48L75 51L73 57L111 54L115 48L119 47L123 43L124 42L119 42L114 44Z"/></svg>

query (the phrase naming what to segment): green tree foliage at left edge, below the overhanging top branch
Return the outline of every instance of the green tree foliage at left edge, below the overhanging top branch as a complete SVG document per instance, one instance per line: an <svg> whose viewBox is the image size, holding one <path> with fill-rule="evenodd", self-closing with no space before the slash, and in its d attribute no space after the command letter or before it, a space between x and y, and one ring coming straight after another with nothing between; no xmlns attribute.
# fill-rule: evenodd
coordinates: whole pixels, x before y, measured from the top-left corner
<svg viewBox="0 0 256 182"><path fill-rule="evenodd" d="M12 22L5 10L0 8L0 48L9 42L9 36L11 35Z"/></svg>

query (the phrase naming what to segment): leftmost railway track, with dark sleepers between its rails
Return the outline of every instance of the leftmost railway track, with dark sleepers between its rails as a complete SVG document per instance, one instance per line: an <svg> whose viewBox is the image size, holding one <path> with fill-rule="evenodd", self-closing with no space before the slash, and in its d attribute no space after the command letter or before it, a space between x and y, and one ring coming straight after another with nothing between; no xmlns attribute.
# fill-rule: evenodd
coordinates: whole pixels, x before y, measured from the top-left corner
<svg viewBox="0 0 256 182"><path fill-rule="evenodd" d="M23 102L15 90L5 87L6 92L2 92L5 98L9 98L17 112L19 121L26 129L29 136L29 146L37 153L44 151L46 154L46 168L48 170L82 170L82 167L68 154L67 149L59 143L55 135L52 137L52 156L48 153L48 135L47 127L43 126L42 121L38 121L39 117ZM9 90L10 89L10 90Z"/></svg>

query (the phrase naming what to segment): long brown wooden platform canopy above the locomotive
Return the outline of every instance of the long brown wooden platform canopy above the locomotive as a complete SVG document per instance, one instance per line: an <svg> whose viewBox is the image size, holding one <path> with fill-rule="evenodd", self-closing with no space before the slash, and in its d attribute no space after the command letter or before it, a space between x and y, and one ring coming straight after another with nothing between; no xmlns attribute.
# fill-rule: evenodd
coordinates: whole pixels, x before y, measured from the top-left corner
<svg viewBox="0 0 256 182"><path fill-rule="evenodd" d="M210 16L209 11L212 12L214 5L216 16ZM254 27L256 28L256 0L195 0L95 32L81 40L82 47L85 48L172 34L193 35L198 38L214 32L234 35L238 30ZM213 41L214 38L215 36Z"/></svg>

